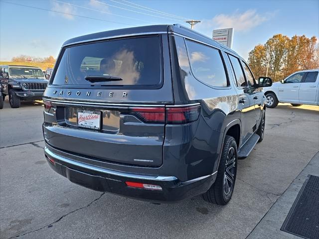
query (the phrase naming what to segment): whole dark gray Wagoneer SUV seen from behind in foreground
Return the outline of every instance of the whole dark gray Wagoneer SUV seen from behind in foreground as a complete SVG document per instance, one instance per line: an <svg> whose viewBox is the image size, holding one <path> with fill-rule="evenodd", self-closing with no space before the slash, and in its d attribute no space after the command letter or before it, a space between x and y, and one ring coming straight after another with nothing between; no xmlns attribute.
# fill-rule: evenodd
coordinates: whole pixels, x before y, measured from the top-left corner
<svg viewBox="0 0 319 239"><path fill-rule="evenodd" d="M151 202L225 205L264 136L265 96L231 49L179 25L66 41L43 102L45 157L71 182Z"/></svg>

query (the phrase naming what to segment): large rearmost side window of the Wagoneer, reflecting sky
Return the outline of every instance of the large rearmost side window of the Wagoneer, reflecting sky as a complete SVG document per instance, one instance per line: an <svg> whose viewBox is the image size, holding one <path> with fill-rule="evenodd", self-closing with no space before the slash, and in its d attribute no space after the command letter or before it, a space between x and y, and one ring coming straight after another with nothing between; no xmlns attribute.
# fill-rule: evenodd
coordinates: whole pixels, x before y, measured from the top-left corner
<svg viewBox="0 0 319 239"><path fill-rule="evenodd" d="M220 51L189 40L186 40L186 44L194 76L207 85L227 87L227 76Z"/></svg>

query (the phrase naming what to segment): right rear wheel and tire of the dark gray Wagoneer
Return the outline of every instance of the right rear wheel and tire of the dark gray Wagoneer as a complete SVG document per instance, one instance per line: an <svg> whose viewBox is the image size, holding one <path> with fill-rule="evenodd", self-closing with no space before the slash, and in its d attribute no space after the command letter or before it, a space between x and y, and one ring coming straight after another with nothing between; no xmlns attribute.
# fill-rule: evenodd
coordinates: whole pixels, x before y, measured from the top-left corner
<svg viewBox="0 0 319 239"><path fill-rule="evenodd" d="M209 203L226 205L233 194L237 173L236 140L226 135L215 183L203 194Z"/></svg>

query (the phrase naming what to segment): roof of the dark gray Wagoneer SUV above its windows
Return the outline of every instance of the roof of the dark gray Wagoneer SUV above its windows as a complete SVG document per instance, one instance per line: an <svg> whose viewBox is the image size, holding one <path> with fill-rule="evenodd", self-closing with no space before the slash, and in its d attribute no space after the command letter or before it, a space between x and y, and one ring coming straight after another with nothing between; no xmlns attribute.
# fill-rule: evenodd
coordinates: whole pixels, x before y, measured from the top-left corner
<svg viewBox="0 0 319 239"><path fill-rule="evenodd" d="M197 31L194 31L188 27L181 26L179 24L173 25L149 25L149 26L138 26L138 27L130 27L130 28L123 28L123 29L116 29L110 31L102 31L93 34L78 36L72 39L65 41L62 45L72 45L82 42L94 41L94 40L102 40L106 38L113 38L113 37L124 37L124 36L131 36L131 35L143 35L143 33L166 33L166 34L178 34L184 37L189 37L191 39L212 45L217 48L222 48L227 50L235 55L238 55L235 51L224 46L212 38L209 38Z"/></svg>

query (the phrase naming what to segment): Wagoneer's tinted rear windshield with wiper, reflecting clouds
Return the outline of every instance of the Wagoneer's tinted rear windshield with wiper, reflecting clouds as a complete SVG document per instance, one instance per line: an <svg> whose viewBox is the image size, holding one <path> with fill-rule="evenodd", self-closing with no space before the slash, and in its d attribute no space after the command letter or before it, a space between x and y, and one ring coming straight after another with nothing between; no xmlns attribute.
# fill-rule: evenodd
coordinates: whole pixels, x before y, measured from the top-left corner
<svg viewBox="0 0 319 239"><path fill-rule="evenodd" d="M93 80L92 80L93 78ZM52 85L143 86L161 83L159 36L65 48Z"/></svg>

